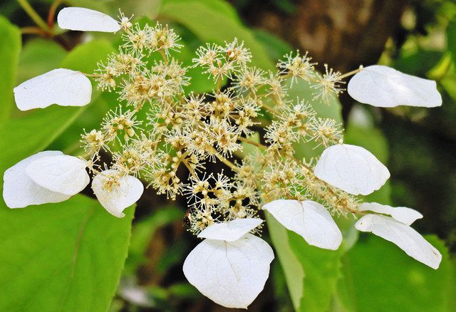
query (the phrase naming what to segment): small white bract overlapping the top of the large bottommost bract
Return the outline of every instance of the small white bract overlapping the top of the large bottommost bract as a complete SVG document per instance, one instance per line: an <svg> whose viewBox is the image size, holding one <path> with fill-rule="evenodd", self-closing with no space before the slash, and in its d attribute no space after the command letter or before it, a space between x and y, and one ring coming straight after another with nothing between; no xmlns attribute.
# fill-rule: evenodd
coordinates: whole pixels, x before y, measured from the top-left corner
<svg viewBox="0 0 456 312"><path fill-rule="evenodd" d="M219 239L222 241L237 241L244 234L261 224L263 220L257 218L234 219L229 222L214 223L202 230L198 237L204 239Z"/></svg>

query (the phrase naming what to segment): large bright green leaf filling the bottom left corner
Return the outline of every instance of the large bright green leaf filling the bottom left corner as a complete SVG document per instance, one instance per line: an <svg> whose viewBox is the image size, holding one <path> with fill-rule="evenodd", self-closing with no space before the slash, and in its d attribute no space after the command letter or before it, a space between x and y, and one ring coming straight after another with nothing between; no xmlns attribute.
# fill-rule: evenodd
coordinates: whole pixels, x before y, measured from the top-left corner
<svg viewBox="0 0 456 312"><path fill-rule="evenodd" d="M133 208L95 199L0 207L0 311L106 311L127 256Z"/></svg>

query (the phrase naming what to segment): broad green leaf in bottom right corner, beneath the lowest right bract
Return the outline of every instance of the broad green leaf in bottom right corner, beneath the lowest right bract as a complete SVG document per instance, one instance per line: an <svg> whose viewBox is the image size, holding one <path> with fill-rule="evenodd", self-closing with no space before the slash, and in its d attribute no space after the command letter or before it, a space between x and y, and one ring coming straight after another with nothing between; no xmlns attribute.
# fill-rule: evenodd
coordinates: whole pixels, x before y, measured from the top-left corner
<svg viewBox="0 0 456 312"><path fill-rule="evenodd" d="M338 298L346 311L454 311L454 268L442 241L427 236L442 253L437 270L410 258L371 234L343 256Z"/></svg>

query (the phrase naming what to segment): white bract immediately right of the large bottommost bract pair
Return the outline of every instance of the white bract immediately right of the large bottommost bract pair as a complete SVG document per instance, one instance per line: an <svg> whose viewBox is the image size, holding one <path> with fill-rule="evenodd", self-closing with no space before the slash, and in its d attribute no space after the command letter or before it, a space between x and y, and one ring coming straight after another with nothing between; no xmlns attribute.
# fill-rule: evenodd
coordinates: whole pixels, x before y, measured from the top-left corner
<svg viewBox="0 0 456 312"><path fill-rule="evenodd" d="M341 230L328 210L318 202L279 199L265 204L263 209L286 229L301 235L309 245L331 250L341 246Z"/></svg>

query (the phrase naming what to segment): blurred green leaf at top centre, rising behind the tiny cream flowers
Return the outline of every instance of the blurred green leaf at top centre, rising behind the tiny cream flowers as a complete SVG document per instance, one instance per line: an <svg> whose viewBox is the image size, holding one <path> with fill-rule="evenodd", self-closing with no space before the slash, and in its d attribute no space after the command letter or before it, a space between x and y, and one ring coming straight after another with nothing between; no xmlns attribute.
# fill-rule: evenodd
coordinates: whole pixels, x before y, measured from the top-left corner
<svg viewBox="0 0 456 312"><path fill-rule="evenodd" d="M266 50L258 43L251 31L234 19L234 14L227 14L228 9L219 10L220 0L165 0L160 6L160 16L171 19L189 28L201 41L223 43L238 38L252 51L252 65L264 69L274 68Z"/></svg>

